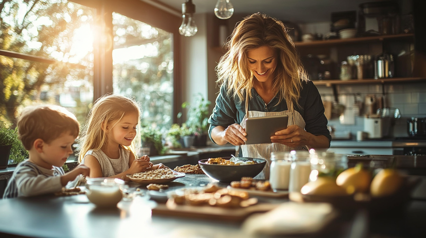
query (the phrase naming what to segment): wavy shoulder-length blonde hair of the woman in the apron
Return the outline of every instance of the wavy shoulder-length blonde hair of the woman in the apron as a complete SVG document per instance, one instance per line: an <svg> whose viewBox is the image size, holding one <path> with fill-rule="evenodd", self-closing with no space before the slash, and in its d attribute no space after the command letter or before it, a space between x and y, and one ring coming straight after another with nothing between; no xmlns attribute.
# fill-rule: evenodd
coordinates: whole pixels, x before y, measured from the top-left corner
<svg viewBox="0 0 426 238"><path fill-rule="evenodd" d="M272 88L279 94L279 102L285 99L288 110L292 111L293 104L300 107L300 89L302 81L308 76L300 61L299 54L294 48L287 31L289 28L276 19L265 14L252 14L245 17L234 29L231 39L226 46L229 48L216 67L218 84L225 83L227 93L238 97L242 102L246 91L250 98L254 86L254 75L248 67L247 52L261 46L269 46L278 54L278 65ZM232 93L233 92L233 93Z"/></svg>

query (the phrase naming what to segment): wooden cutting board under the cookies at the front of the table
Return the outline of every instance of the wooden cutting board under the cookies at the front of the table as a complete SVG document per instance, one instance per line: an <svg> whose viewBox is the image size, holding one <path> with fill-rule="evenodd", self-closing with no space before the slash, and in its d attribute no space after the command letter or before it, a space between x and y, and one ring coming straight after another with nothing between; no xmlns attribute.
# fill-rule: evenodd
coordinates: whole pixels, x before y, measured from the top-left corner
<svg viewBox="0 0 426 238"><path fill-rule="evenodd" d="M220 221L243 221L256 212L268 212L280 204L262 203L250 207L224 208L209 205L193 206L178 205L167 201L166 204L157 204L152 209L153 215L179 216L183 218L203 218Z"/></svg>

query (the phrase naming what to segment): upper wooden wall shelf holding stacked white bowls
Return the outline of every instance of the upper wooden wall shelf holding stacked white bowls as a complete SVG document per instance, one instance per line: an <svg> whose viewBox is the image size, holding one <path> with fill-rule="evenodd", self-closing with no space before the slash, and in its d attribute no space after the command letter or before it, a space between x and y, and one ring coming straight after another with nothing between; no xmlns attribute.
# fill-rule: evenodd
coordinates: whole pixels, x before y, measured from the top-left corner
<svg viewBox="0 0 426 238"><path fill-rule="evenodd" d="M294 42L296 47L314 47L321 45L335 45L335 44L351 44L351 43L362 43L362 42L380 42L383 40L397 40L397 39L413 39L414 34L397 34L397 35L381 35L374 37L354 37L345 39L334 39L334 40L315 40L311 42Z"/></svg>

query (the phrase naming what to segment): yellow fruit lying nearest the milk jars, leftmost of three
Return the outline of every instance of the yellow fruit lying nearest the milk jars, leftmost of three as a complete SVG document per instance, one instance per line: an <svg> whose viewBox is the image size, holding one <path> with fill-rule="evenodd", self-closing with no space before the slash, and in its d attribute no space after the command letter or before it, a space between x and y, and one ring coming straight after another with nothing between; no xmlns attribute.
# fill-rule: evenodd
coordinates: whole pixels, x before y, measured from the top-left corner
<svg viewBox="0 0 426 238"><path fill-rule="evenodd" d="M321 177L305 184L300 192L305 195L347 195L345 189L333 179Z"/></svg>

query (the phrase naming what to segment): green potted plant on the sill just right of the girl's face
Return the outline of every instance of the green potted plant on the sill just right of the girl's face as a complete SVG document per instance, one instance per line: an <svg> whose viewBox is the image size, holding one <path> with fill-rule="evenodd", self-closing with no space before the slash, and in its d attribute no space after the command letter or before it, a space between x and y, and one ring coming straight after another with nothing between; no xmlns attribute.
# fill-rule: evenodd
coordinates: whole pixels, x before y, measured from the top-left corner
<svg viewBox="0 0 426 238"><path fill-rule="evenodd" d="M152 126L141 128L142 153L148 156L161 155L166 148L163 146L163 135Z"/></svg>

